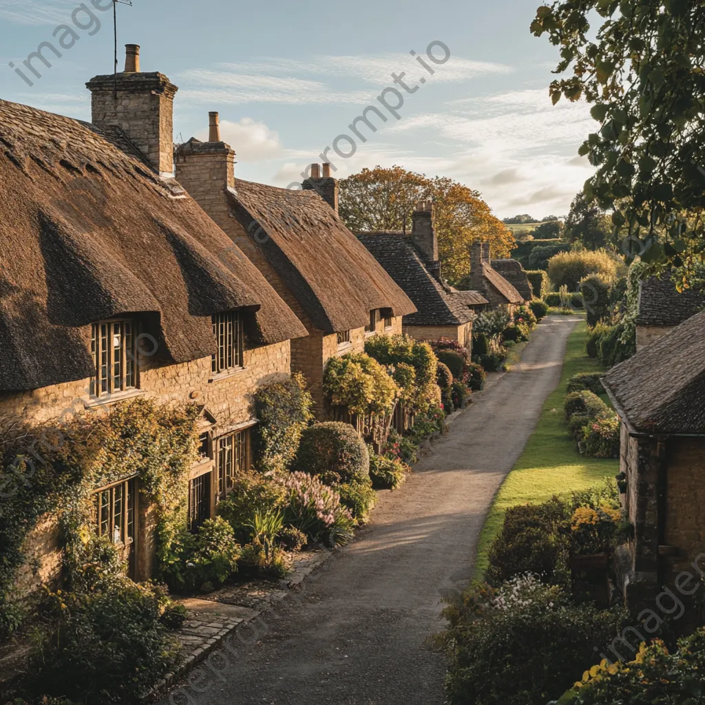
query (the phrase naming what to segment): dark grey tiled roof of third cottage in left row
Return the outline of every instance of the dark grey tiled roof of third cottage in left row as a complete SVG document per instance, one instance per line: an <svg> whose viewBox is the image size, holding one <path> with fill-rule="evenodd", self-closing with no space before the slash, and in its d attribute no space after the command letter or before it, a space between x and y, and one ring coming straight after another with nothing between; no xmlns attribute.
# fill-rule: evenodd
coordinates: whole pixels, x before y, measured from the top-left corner
<svg viewBox="0 0 705 705"><path fill-rule="evenodd" d="M359 233L357 237L414 302L417 312L404 317L405 325L460 326L474 319L467 305L431 274L410 238L402 233Z"/></svg>

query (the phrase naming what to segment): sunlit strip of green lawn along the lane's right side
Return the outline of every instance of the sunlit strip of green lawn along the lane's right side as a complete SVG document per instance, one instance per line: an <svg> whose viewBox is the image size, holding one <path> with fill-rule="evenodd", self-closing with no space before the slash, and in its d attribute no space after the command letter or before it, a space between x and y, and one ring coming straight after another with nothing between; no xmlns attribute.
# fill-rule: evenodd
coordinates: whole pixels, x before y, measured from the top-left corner
<svg viewBox="0 0 705 705"><path fill-rule="evenodd" d="M599 372L603 369L598 360L585 354L586 331L587 324L580 321L570 334L560 383L546 399L536 431L505 478L489 510L477 547L476 580L482 580L489 547L501 529L508 507L527 502L539 503L554 494L585 489L619 472L618 460L580 455L563 421L563 400L568 379L578 372Z"/></svg>

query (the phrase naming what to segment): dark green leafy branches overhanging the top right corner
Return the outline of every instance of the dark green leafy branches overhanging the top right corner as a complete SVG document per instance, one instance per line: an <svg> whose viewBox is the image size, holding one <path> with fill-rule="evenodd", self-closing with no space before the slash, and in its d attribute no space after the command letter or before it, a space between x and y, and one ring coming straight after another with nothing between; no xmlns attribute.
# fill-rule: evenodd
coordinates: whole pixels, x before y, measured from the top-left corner
<svg viewBox="0 0 705 705"><path fill-rule="evenodd" d="M690 276L705 250L705 6L556 0L531 30L560 47L556 73L572 73L551 83L554 104L584 97L600 125L580 147L597 167L585 197L613 210L629 250Z"/></svg>

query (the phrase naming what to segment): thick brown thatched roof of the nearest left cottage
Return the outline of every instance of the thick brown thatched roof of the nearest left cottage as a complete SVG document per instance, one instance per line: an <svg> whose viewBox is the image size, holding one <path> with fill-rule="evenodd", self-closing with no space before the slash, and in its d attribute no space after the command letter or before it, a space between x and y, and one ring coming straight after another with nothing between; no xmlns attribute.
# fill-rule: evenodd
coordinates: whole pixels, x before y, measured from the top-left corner
<svg viewBox="0 0 705 705"><path fill-rule="evenodd" d="M90 376L90 324L122 314L149 314L174 362L214 353L211 315L228 309L254 312L255 344L306 335L116 129L0 101L0 190L0 391Z"/></svg>

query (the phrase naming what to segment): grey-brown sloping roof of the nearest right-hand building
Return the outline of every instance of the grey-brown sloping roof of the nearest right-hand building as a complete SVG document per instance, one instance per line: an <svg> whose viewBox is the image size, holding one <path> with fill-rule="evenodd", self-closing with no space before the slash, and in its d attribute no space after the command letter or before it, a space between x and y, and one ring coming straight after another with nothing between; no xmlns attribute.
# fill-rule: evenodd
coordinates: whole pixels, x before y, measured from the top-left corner
<svg viewBox="0 0 705 705"><path fill-rule="evenodd" d="M680 324L603 378L637 432L705 433L705 313Z"/></svg>

